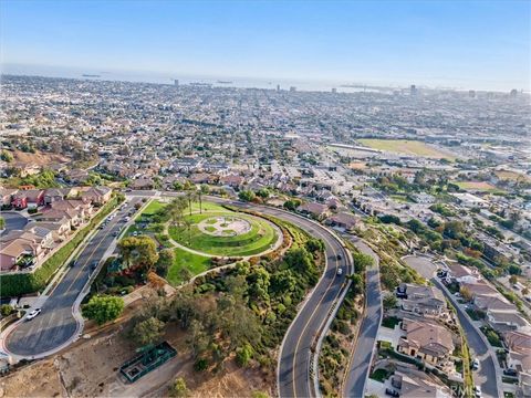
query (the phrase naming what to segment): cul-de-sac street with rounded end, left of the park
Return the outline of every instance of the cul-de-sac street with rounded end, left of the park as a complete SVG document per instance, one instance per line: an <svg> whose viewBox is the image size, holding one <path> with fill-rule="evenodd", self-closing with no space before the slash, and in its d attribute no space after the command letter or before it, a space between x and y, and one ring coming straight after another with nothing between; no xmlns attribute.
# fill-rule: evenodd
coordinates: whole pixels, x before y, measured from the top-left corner
<svg viewBox="0 0 531 398"><path fill-rule="evenodd" d="M101 261L116 239L113 232L124 226L121 219L140 199L129 201L107 226L98 230L77 256L79 263L70 269L42 305L42 313L32 321L22 321L7 336L4 347L17 356L40 356L66 344L77 331L72 306L85 286L91 264Z"/></svg>

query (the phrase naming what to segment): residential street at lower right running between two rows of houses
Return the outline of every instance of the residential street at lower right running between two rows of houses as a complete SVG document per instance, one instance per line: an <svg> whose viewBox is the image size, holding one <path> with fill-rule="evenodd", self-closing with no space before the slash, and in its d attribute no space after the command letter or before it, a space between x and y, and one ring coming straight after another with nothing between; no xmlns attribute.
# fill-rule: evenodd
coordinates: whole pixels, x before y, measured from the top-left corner
<svg viewBox="0 0 531 398"><path fill-rule="evenodd" d="M468 346L473 350L473 356L479 359L479 370L472 374L475 383L481 386L483 397L498 397L498 383L501 383L501 380L498 380L496 374L494 360L498 360L496 353L485 343L480 336L481 332L465 315L465 311L461 310L456 297L448 292L446 286L437 277L433 277L431 282L442 291L456 307L459 323L467 336Z"/></svg>

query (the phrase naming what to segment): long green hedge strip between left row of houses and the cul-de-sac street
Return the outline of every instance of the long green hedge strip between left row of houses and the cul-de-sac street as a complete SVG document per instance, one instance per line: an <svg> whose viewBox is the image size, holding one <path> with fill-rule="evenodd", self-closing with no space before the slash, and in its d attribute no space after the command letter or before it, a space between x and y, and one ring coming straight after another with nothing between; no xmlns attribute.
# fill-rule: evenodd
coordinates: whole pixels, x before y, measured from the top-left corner
<svg viewBox="0 0 531 398"><path fill-rule="evenodd" d="M85 240L87 234L102 221L123 199L113 197L94 217L88 226L80 230L75 237L59 249L44 264L31 273L0 275L0 297L20 296L43 290L58 269L64 264L72 252Z"/></svg>

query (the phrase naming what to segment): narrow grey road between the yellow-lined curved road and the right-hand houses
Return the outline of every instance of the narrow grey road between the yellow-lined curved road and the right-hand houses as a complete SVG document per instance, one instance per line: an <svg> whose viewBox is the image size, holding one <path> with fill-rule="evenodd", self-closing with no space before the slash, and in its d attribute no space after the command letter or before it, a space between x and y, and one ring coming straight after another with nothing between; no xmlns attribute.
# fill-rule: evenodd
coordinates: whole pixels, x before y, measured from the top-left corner
<svg viewBox="0 0 531 398"><path fill-rule="evenodd" d="M363 397L365 383L371 369L371 360L382 320L382 292L379 289L379 259L376 253L362 240L353 240L353 243L364 254L374 260L374 265L366 272L366 314L363 317L357 337L356 348L352 354L352 360L346 373L346 380L343 388L346 397Z"/></svg>

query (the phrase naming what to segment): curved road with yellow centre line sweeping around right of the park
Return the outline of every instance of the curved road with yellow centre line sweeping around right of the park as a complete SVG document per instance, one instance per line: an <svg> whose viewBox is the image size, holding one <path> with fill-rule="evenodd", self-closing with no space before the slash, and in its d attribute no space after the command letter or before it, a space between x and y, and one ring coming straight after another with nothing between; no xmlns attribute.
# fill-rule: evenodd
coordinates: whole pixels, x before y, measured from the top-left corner
<svg viewBox="0 0 531 398"><path fill-rule="evenodd" d="M128 195L153 196L153 192L134 191ZM162 195L174 197L179 193L163 192ZM352 272L352 264L350 264L350 258L344 247L325 228L298 214L270 207L228 201L215 197L209 197L208 200L218 203L229 203L277 217L296 224L310 235L324 241L327 260L326 270L284 336L278 369L280 397L315 396L313 379L310 376L311 347L315 346L317 332L324 326L329 313L341 293L346 274ZM337 259L337 254L341 255L341 260ZM337 275L340 266L343 269L342 275Z"/></svg>

